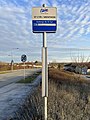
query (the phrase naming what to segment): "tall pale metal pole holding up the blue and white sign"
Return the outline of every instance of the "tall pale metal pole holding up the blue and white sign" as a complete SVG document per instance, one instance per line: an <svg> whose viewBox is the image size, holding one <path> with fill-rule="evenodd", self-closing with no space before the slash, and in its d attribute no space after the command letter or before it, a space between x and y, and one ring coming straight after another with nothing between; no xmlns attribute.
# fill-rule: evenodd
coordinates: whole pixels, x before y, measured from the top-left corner
<svg viewBox="0 0 90 120"><path fill-rule="evenodd" d="M47 120L47 97L48 97L48 64L47 64L47 45L46 32L43 33L42 49L42 97L44 97L44 118Z"/></svg>

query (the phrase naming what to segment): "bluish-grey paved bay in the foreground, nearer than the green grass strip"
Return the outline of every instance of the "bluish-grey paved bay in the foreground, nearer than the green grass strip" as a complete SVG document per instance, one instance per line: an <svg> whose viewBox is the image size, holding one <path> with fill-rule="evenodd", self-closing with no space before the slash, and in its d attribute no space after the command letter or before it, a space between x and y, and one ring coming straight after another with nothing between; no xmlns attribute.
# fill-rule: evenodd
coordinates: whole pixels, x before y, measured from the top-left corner
<svg viewBox="0 0 90 120"><path fill-rule="evenodd" d="M35 81L29 84L11 83L0 88L0 120L9 120L13 117L27 96L40 85L40 81L41 76L38 76Z"/></svg>

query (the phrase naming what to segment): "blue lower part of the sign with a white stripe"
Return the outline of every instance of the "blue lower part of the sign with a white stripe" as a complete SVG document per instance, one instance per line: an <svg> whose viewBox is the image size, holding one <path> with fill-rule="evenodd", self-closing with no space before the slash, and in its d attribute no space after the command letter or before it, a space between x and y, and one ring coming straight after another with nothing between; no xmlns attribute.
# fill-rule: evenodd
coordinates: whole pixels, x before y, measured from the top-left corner
<svg viewBox="0 0 90 120"><path fill-rule="evenodd" d="M33 32L55 32L57 26L56 20L33 20Z"/></svg>

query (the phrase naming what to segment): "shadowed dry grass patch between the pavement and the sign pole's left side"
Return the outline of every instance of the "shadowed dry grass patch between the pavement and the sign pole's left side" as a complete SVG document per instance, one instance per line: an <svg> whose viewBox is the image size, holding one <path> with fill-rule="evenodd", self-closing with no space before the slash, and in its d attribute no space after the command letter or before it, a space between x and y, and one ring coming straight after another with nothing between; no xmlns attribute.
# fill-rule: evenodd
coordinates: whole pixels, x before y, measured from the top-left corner
<svg viewBox="0 0 90 120"><path fill-rule="evenodd" d="M41 89L37 88L33 94L27 96L25 103L8 120L43 120L43 99Z"/></svg>

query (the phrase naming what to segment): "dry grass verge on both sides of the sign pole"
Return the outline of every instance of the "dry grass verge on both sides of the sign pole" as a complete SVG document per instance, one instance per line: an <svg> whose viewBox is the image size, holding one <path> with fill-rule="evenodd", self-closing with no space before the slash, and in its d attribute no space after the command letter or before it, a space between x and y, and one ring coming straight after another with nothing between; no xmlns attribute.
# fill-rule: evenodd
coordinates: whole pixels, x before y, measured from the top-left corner
<svg viewBox="0 0 90 120"><path fill-rule="evenodd" d="M10 120L44 120L41 86ZM48 120L90 120L90 83L69 72L50 69Z"/></svg>

